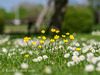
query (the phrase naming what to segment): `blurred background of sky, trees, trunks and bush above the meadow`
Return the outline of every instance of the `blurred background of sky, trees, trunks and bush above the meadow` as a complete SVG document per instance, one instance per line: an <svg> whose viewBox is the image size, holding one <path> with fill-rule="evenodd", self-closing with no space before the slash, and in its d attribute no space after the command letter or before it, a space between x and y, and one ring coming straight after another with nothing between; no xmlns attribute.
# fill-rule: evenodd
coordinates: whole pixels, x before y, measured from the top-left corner
<svg viewBox="0 0 100 75"><path fill-rule="evenodd" d="M100 30L100 0L0 0L0 33ZM95 33L94 33L95 34Z"/></svg>

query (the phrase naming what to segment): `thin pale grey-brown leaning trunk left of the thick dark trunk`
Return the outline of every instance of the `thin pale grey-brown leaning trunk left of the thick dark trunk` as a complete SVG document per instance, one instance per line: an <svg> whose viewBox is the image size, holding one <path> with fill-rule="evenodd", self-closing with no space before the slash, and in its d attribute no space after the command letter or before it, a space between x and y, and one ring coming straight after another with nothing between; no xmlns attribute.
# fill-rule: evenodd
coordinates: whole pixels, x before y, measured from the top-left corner
<svg viewBox="0 0 100 75"><path fill-rule="evenodd" d="M51 2L52 2L52 0L49 0L49 1L48 1L47 5L43 8L43 10L42 10L40 16L38 17L38 19L37 19L37 21L36 21L36 24L35 24L36 32L39 31L40 25L41 25L41 23L42 23L42 21L43 21L43 18L44 18L44 16L45 16L45 14L47 13L47 11L48 11L48 9L49 9L49 7L50 7L50 5L51 5Z"/></svg>

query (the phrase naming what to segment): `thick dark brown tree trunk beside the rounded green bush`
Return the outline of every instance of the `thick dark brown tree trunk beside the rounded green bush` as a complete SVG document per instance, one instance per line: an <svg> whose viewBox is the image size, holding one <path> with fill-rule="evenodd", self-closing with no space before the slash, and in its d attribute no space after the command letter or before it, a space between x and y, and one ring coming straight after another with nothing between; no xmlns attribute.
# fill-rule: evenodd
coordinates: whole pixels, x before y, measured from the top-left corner
<svg viewBox="0 0 100 75"><path fill-rule="evenodd" d="M66 12L66 7L68 0L55 0L54 13L51 18L49 30L51 28L56 28L61 31L61 25L64 19L64 14Z"/></svg>

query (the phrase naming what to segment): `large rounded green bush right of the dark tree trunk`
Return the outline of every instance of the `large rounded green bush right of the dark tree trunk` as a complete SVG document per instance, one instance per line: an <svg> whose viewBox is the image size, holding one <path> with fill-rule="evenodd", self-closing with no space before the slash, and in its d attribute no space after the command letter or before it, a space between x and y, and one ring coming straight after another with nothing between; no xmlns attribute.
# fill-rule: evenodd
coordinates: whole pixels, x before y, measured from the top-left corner
<svg viewBox="0 0 100 75"><path fill-rule="evenodd" d="M90 32L94 23L93 14L87 8L69 7L62 30L69 32Z"/></svg>

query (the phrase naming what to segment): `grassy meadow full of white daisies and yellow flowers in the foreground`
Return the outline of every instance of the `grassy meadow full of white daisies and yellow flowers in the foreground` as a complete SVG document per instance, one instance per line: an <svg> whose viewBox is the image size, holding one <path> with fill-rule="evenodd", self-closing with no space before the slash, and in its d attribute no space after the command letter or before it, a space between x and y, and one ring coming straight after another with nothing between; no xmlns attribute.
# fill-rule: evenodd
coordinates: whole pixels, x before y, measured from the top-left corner
<svg viewBox="0 0 100 75"><path fill-rule="evenodd" d="M0 75L99 75L100 36L0 35Z"/></svg>

